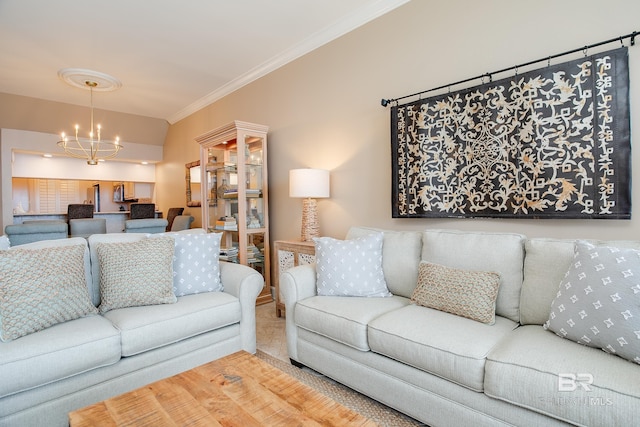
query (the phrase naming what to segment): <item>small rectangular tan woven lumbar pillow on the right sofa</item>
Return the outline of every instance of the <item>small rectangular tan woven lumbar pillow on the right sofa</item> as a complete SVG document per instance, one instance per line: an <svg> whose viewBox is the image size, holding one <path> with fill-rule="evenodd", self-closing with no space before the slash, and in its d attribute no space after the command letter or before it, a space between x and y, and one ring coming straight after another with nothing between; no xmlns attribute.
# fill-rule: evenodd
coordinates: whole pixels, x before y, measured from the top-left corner
<svg viewBox="0 0 640 427"><path fill-rule="evenodd" d="M496 321L500 275L420 262L418 285L411 301L478 322Z"/></svg>

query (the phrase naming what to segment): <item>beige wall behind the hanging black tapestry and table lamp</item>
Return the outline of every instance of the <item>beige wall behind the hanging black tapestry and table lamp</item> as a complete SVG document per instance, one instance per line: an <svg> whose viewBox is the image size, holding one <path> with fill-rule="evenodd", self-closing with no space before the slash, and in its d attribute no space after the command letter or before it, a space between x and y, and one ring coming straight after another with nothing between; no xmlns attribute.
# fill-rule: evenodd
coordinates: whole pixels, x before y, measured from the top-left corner
<svg viewBox="0 0 640 427"><path fill-rule="evenodd" d="M300 167L331 170L331 198L319 202L323 235L343 237L351 225L366 225L640 238L640 185L633 186L631 221L392 219L389 110L380 106L381 98L640 30L638 16L636 0L414 0L170 126L158 201L165 210L184 205L184 163L199 158L194 138L237 119L270 127L272 240L299 236L301 201L288 197L288 171ZM640 105L639 49L629 50L632 111ZM636 129L638 115L633 136ZM633 156L640 171L636 150Z"/></svg>

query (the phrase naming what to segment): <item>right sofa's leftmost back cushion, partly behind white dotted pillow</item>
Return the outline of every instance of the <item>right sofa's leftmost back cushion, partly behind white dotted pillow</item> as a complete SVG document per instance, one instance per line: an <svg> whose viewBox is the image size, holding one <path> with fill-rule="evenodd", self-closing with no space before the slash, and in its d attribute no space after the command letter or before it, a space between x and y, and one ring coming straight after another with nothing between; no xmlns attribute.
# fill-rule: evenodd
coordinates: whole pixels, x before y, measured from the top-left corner
<svg viewBox="0 0 640 427"><path fill-rule="evenodd" d="M355 239L379 232L384 233L382 270L387 287L394 295L410 298L418 279L418 263L422 255L422 232L351 227L346 238Z"/></svg>

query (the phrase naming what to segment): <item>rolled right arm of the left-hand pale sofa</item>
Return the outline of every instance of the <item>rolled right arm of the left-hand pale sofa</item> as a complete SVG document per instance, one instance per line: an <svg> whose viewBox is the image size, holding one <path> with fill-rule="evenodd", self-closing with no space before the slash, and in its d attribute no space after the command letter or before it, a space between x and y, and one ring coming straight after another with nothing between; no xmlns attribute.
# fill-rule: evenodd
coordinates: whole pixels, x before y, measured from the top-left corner
<svg viewBox="0 0 640 427"><path fill-rule="evenodd" d="M251 267L232 262L220 263L224 292L240 300L240 339L242 349L256 352L256 298L264 288L264 278Z"/></svg>

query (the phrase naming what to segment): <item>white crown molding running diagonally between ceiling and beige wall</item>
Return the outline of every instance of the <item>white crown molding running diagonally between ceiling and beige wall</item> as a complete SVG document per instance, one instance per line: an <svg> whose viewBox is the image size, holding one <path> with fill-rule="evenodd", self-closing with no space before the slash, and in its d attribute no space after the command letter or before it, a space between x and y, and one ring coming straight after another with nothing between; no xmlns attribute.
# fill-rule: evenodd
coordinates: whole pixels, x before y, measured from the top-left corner
<svg viewBox="0 0 640 427"><path fill-rule="evenodd" d="M173 114L167 121L170 124L174 124L185 117L203 109L204 107L213 104L219 99L235 92L236 90L248 85L249 83L263 77L272 71L277 70L283 65L329 43L332 40L337 39L350 31L372 21L385 13L392 11L410 0L378 0L364 6L354 13L343 17L336 21L332 25L318 31L311 37L306 38L300 43L297 43L290 49L285 50L281 54L278 54L268 61L254 67L248 72L242 74L236 79L231 80L225 85L219 87L206 96L198 99L196 102L188 105L177 113Z"/></svg>

